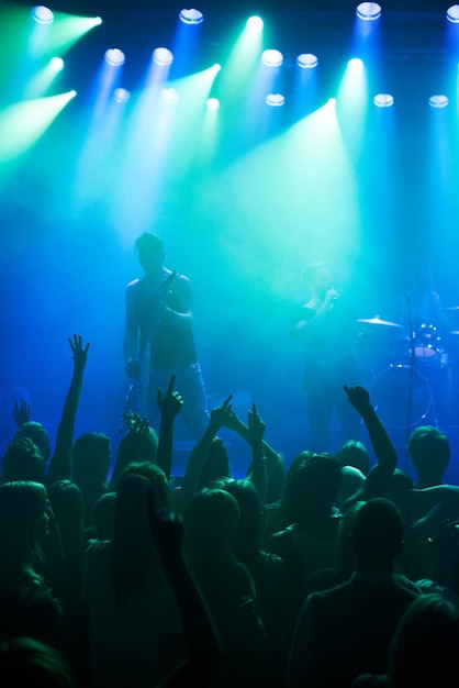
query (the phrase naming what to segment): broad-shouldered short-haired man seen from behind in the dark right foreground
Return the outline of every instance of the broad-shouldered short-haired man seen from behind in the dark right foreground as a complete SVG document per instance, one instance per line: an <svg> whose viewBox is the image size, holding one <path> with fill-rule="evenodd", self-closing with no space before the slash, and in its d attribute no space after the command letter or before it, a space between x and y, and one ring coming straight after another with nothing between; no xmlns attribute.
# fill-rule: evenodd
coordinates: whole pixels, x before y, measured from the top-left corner
<svg viewBox="0 0 459 688"><path fill-rule="evenodd" d="M288 681L349 687L360 674L383 674L400 619L417 598L394 577L403 550L403 518L388 499L357 511L351 531L356 570L350 580L314 592L302 607L291 647Z"/></svg>

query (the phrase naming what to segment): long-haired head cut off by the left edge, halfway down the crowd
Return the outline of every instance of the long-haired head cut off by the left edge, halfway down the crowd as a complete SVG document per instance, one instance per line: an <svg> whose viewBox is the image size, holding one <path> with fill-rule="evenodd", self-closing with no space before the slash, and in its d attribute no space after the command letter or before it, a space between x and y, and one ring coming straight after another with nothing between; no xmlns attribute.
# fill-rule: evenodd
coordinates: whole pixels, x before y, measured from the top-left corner
<svg viewBox="0 0 459 688"><path fill-rule="evenodd" d="M11 579L41 561L48 522L47 493L41 482L0 486L0 578Z"/></svg>

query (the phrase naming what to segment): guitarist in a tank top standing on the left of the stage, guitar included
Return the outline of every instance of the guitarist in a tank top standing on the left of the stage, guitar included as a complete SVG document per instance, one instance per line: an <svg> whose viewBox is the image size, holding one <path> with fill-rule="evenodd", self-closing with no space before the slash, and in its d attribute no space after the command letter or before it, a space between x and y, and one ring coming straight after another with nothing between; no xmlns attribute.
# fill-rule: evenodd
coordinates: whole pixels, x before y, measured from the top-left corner
<svg viewBox="0 0 459 688"><path fill-rule="evenodd" d="M157 388L167 389L176 375L184 403L181 417L197 440L208 424L206 395L198 363L191 285L184 275L163 265L161 238L145 232L135 242L144 277L126 287L125 370L141 386L137 409L152 424L158 418Z"/></svg>

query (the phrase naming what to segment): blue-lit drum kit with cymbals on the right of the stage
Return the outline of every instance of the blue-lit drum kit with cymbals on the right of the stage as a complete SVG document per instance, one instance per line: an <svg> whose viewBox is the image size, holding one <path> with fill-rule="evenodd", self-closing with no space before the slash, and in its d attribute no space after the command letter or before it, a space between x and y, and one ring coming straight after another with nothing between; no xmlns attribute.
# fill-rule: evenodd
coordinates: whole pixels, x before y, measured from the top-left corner
<svg viewBox="0 0 459 688"><path fill-rule="evenodd" d="M445 310L459 314L459 307ZM423 323L406 337L401 324L379 317L357 322L360 375L381 421L394 429L459 425L459 330L440 334Z"/></svg>

